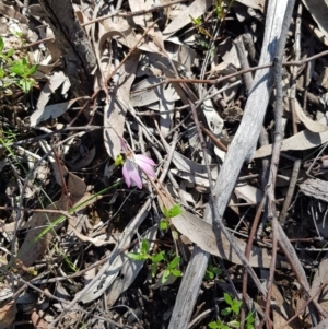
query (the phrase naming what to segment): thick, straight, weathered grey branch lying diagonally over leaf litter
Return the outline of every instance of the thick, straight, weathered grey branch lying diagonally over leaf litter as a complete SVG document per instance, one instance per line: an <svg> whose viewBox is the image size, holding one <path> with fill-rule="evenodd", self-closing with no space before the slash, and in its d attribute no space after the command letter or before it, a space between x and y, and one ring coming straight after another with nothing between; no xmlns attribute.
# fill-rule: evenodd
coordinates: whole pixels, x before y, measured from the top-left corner
<svg viewBox="0 0 328 329"><path fill-rule="evenodd" d="M259 62L260 66L273 61L285 8L286 0L271 0L269 2L266 34ZM216 203L221 219L234 189L243 163L250 160L254 154L272 90L272 68L257 71L254 86L249 93L249 98L246 104L244 117L229 149L214 186L214 202ZM204 221L211 223L212 219L213 214L208 205L204 214ZM218 223L213 223L213 225L215 230L215 227L218 227ZM197 259L197 261L195 259ZM194 249L191 260L189 261L180 284L168 329L186 329L188 327L196 299L198 297L199 287L208 265L208 252L201 251L198 247ZM197 272L197 275L195 275L195 272Z"/></svg>

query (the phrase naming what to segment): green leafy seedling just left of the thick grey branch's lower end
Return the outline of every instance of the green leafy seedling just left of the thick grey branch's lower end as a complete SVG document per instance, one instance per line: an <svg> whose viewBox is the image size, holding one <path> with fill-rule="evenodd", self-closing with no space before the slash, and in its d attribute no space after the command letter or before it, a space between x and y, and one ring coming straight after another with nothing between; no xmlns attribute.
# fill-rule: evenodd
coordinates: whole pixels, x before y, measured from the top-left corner
<svg viewBox="0 0 328 329"><path fill-rule="evenodd" d="M166 270L164 271L162 275L162 283L164 284L169 275L174 277L181 277L183 273L178 269L180 257L176 256L172 260L169 260L169 257L165 254L165 251L161 251L154 255L149 255L150 245L147 239L141 240L141 247L140 251L129 252L128 257L130 257L133 260L150 260L152 263L152 277L154 278L157 273L157 267L161 261L165 263Z"/></svg>

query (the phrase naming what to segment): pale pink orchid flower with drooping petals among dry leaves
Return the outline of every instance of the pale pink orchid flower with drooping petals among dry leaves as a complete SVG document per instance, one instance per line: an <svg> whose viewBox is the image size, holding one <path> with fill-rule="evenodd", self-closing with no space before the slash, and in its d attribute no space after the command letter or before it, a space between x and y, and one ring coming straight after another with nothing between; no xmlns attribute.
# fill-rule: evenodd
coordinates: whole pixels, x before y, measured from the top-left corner
<svg viewBox="0 0 328 329"><path fill-rule="evenodd" d="M156 165L151 158L143 154L134 154L129 150L126 141L119 137L122 152L126 154L126 162L122 167L122 175L128 187L137 186L142 189L141 172L151 177L155 177L154 166Z"/></svg>

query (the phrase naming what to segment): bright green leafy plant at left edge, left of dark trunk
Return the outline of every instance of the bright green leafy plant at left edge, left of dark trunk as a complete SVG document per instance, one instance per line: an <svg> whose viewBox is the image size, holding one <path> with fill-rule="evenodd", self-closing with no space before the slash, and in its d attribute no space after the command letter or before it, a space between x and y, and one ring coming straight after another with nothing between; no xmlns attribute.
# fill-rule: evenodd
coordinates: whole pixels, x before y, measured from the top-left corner
<svg viewBox="0 0 328 329"><path fill-rule="evenodd" d="M4 52L4 42L0 37L0 79L2 80L2 87L8 89L15 84L24 93L28 93L35 84L32 75L36 72L38 66L31 66L25 57L14 60L13 55L14 49Z"/></svg>

